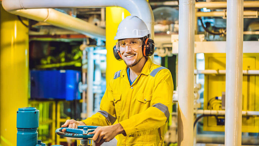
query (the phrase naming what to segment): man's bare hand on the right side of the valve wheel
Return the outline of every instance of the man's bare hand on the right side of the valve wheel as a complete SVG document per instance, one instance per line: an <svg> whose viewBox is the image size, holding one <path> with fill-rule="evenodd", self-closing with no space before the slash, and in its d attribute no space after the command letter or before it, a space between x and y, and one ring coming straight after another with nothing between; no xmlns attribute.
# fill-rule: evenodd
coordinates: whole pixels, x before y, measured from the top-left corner
<svg viewBox="0 0 259 146"><path fill-rule="evenodd" d="M89 132L88 134L95 134L93 140L96 143L103 143L109 142L118 134L125 135L125 131L120 123L118 123L112 126L97 127L93 132Z"/></svg>

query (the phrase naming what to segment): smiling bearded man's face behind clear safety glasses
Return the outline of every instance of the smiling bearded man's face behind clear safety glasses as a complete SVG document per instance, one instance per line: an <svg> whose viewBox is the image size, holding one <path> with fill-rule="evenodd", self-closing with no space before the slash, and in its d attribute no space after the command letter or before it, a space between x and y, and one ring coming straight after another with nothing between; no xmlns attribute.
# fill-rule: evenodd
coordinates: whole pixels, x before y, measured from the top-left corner
<svg viewBox="0 0 259 146"><path fill-rule="evenodd" d="M140 46L134 45L135 43L142 43L142 41L138 39L141 42L136 42L134 41L136 39L138 38L124 39L125 41L121 43L121 46L123 45L123 48L120 47L121 58L128 67L135 66L144 57L142 54L142 44Z"/></svg>

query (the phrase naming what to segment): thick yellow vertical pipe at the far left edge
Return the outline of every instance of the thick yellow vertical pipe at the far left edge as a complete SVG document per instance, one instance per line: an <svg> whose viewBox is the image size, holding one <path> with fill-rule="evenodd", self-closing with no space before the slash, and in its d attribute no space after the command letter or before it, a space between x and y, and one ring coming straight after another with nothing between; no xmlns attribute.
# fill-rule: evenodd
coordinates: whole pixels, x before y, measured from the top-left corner
<svg viewBox="0 0 259 146"><path fill-rule="evenodd" d="M0 145L15 146L16 111L28 105L28 28L2 5L0 12Z"/></svg>

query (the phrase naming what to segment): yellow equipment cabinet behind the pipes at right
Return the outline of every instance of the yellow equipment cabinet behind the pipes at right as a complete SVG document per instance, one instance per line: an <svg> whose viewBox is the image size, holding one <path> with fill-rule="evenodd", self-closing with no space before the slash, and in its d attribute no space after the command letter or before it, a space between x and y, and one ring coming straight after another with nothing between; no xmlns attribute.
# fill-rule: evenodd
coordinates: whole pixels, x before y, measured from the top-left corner
<svg viewBox="0 0 259 146"><path fill-rule="evenodd" d="M226 69L226 54L204 54L205 69L224 70ZM259 70L259 53L243 54L243 70ZM204 109L224 110L220 100L210 100L221 96L225 92L225 74L205 74L204 77ZM242 86L242 110L259 110L259 75L243 75ZM210 101L210 106L208 106ZM223 101L224 102L224 101ZM228 103L231 104L231 103ZM218 117L225 119L224 117ZM204 117L204 131L225 131L224 125L218 125L215 117ZM259 132L259 117L242 116L242 132Z"/></svg>

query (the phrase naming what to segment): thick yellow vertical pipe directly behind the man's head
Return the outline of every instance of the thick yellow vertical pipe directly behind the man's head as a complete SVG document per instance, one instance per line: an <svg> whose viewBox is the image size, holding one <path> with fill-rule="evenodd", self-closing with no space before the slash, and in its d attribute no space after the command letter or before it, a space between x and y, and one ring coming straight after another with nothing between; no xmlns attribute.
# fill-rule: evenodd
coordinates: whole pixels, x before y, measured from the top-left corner
<svg viewBox="0 0 259 146"><path fill-rule="evenodd" d="M148 0L147 0L148 1ZM126 67L124 61L118 61L113 56L112 48L117 40L116 36L118 26L124 18L130 16L130 12L120 7L106 7L106 85L114 77L114 73Z"/></svg>

